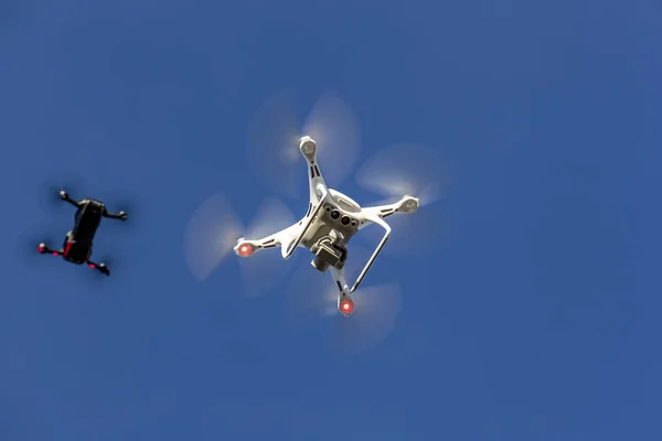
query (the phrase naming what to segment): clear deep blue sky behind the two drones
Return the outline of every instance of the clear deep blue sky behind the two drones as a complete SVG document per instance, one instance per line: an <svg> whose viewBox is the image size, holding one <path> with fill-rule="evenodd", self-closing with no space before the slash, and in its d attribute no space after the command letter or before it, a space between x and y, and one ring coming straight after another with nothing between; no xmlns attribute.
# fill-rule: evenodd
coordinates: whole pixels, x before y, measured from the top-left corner
<svg viewBox="0 0 662 441"><path fill-rule="evenodd" d="M0 6L0 438L660 439L662 6L243 4ZM205 282L184 261L206 197L248 219L276 195L244 146L288 87L300 112L344 97L360 159L414 141L452 164L437 252L370 275L396 275L403 312L359 356L329 351L328 320L290 326L285 282L246 299L234 259ZM15 258L70 227L41 192L74 175L140 203L102 225L98 283Z"/></svg>

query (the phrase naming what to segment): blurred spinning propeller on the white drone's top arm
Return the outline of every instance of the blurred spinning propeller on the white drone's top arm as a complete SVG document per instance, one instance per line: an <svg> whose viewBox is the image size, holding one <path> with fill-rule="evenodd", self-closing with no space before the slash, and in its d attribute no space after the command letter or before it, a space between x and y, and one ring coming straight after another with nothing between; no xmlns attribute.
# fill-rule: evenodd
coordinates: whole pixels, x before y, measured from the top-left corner
<svg viewBox="0 0 662 441"><path fill-rule="evenodd" d="M291 95L276 94L253 119L247 147L267 183L288 197L296 197L302 187L305 164L298 141L303 136L319 146L318 161L332 186L349 178L357 160L359 126L344 100L330 93L322 95L301 127Z"/></svg>

